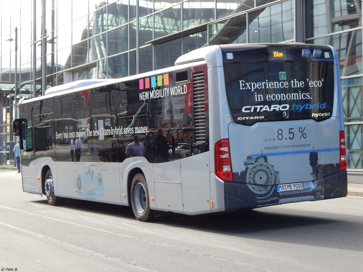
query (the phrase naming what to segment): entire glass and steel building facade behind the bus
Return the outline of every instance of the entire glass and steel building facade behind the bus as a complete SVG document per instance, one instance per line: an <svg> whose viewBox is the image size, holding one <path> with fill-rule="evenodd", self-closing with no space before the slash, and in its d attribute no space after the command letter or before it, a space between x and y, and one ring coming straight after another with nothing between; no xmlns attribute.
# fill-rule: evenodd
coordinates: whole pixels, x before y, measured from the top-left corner
<svg viewBox="0 0 363 272"><path fill-rule="evenodd" d="M202 46L305 42L338 51L349 178L363 175L361 0L0 0L0 37L0 164L14 104L50 86L172 66Z"/></svg>

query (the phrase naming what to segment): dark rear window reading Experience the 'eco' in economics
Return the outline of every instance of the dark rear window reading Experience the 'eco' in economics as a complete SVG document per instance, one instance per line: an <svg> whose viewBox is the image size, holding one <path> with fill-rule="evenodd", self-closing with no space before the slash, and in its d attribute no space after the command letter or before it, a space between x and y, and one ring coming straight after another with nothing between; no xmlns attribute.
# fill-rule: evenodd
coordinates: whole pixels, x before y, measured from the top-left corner
<svg viewBox="0 0 363 272"><path fill-rule="evenodd" d="M260 121L330 118L334 102L331 54L325 55L327 59L294 59L291 55L285 57L288 54L284 52L284 58L271 59L271 52L266 51L266 56L260 55L256 61L233 60L231 54L235 53L225 54L224 70L235 122L252 125Z"/></svg>

